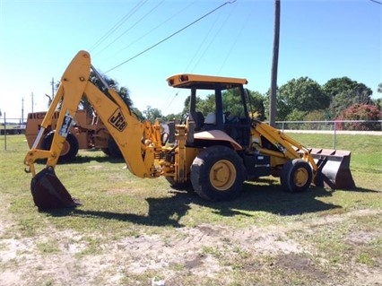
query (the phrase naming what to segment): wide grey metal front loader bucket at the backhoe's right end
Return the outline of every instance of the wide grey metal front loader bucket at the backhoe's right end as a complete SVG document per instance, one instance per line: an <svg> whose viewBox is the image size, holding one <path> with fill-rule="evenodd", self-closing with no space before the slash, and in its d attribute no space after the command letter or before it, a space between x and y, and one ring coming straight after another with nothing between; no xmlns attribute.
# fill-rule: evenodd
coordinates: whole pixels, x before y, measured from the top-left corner
<svg viewBox="0 0 382 286"><path fill-rule="evenodd" d="M322 178L326 186L332 189L355 188L354 180L350 170L350 151L312 149L312 157L317 160L326 160L322 169Z"/></svg>

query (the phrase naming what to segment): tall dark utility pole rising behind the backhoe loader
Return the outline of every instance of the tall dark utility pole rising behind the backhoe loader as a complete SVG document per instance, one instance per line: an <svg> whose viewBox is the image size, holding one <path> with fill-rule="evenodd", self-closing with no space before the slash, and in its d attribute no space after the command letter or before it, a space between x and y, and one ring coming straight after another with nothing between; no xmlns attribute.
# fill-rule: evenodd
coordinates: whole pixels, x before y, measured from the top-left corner
<svg viewBox="0 0 382 286"><path fill-rule="evenodd" d="M276 125L276 92L277 92L277 68L279 64L280 45L280 2L274 0L274 35L273 35L273 60L271 75L271 94L269 99L269 125Z"/></svg>

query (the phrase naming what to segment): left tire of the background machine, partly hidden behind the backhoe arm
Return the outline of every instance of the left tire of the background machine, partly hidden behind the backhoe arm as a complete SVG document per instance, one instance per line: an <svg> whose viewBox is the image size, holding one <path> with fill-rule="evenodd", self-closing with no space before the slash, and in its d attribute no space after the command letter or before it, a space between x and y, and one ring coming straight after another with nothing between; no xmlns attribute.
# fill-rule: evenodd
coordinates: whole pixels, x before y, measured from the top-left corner
<svg viewBox="0 0 382 286"><path fill-rule="evenodd" d="M42 150L50 150L50 146L52 145L54 135L55 131L50 131L48 134L45 135L44 138L42 138ZM74 160L75 156L77 156L78 149L79 145L77 138L75 138L74 134L67 134L63 149L58 160L61 162Z"/></svg>

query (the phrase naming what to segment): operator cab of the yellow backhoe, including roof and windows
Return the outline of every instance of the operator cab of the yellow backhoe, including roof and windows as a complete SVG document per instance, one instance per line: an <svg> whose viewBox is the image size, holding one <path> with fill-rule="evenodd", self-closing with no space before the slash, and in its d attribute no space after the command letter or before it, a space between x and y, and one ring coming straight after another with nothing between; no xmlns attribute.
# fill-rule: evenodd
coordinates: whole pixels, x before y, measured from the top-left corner
<svg viewBox="0 0 382 286"><path fill-rule="evenodd" d="M246 79L198 74L177 74L167 79L169 86L191 91L189 119L195 122L195 134L221 130L240 146L250 143L250 118L247 94L243 88ZM210 107L201 107L197 99L207 95ZM200 134L197 135L200 138Z"/></svg>

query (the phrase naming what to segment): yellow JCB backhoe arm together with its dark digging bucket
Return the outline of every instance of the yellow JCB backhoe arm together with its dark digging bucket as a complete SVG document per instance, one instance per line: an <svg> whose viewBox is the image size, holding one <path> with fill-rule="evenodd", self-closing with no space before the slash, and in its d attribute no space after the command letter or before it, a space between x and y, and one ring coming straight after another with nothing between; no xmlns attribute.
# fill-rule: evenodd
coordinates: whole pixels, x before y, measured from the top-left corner
<svg viewBox="0 0 382 286"><path fill-rule="evenodd" d="M107 90L100 91L89 81L91 70ZM161 149L161 129L159 124L140 122L116 91L109 89L108 84L91 65L91 56L80 51L67 66L60 85L48 112L42 122L39 134L30 151L26 154L24 164L27 172L32 173L30 190L39 209L71 207L80 204L56 178L55 167L63 149L70 126L74 125L77 108L85 96L92 108L106 126L122 153L128 169L140 178L156 178L161 175L160 166L155 166L155 152ZM50 125L55 111L59 109L56 132L50 150L39 150L39 141L45 128ZM46 168L36 174L35 161L47 159Z"/></svg>

